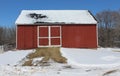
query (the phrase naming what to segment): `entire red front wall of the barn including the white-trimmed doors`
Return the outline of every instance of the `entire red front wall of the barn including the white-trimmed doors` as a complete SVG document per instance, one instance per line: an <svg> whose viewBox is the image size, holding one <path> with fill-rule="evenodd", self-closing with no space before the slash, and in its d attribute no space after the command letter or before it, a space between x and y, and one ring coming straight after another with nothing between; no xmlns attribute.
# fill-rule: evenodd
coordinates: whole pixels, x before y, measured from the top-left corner
<svg viewBox="0 0 120 76"><path fill-rule="evenodd" d="M97 48L96 24L17 25L17 49L61 45L61 40L66 48Z"/></svg>

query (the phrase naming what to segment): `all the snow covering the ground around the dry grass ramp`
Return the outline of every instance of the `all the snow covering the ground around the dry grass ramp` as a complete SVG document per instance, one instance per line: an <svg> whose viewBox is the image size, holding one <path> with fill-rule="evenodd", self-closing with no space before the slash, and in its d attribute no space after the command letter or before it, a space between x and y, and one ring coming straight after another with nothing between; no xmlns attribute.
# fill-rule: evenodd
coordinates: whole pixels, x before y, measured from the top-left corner
<svg viewBox="0 0 120 76"><path fill-rule="evenodd" d="M61 48L68 64L52 62L50 66L16 66L32 50L0 54L0 76L120 76L120 49Z"/></svg>

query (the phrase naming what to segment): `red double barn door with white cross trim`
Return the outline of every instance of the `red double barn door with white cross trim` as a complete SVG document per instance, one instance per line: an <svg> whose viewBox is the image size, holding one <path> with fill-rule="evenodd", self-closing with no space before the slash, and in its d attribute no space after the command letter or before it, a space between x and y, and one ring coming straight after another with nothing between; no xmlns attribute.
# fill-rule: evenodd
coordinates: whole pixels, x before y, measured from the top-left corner
<svg viewBox="0 0 120 76"><path fill-rule="evenodd" d="M38 26L38 47L61 46L61 26Z"/></svg>

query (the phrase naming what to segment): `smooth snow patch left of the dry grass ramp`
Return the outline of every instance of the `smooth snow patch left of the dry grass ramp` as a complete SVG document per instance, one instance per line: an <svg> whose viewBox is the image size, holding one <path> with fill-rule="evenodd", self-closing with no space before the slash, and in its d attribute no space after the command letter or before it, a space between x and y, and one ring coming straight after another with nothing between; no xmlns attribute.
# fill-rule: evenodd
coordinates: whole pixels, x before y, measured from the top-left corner
<svg viewBox="0 0 120 76"><path fill-rule="evenodd" d="M16 65L32 50L8 51L0 54L0 65Z"/></svg>

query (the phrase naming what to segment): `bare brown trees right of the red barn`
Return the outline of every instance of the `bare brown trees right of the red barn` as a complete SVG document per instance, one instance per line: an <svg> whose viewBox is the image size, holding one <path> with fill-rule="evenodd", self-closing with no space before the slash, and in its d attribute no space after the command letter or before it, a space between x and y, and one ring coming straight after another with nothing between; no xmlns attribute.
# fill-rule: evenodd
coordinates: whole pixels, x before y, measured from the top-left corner
<svg viewBox="0 0 120 76"><path fill-rule="evenodd" d="M113 47L115 35L117 34L116 26L118 26L118 11L104 10L96 14L98 20L98 37L99 45L102 47Z"/></svg>

